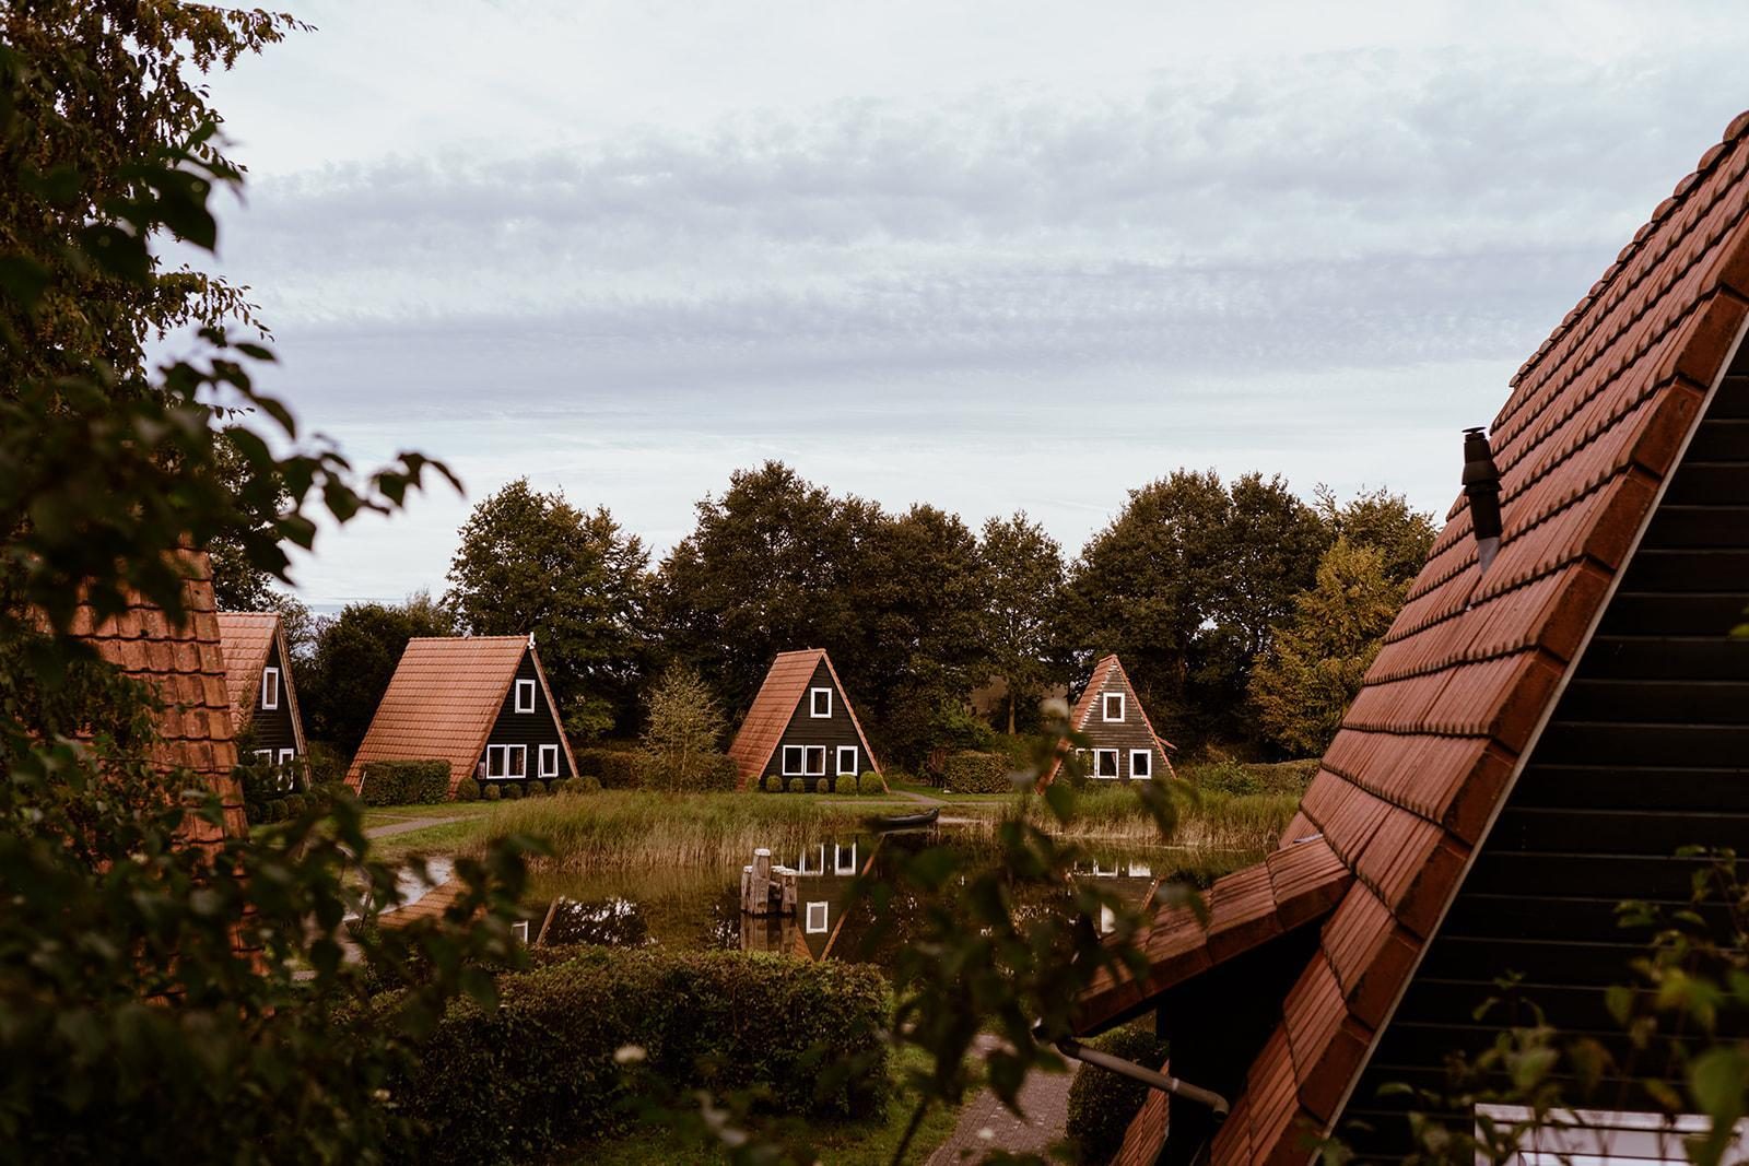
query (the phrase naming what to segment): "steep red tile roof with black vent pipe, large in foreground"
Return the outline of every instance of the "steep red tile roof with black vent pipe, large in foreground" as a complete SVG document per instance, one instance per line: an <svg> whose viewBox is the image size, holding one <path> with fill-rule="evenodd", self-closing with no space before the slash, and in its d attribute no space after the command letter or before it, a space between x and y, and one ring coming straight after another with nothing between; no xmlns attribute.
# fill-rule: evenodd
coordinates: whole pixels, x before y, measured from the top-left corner
<svg viewBox="0 0 1749 1166"><path fill-rule="evenodd" d="M1749 320L1746 136L1749 114L1513 378L1499 558L1481 575L1460 496L1284 836L1322 832L1354 881L1214 1163L1308 1161L1550 715Z"/></svg>

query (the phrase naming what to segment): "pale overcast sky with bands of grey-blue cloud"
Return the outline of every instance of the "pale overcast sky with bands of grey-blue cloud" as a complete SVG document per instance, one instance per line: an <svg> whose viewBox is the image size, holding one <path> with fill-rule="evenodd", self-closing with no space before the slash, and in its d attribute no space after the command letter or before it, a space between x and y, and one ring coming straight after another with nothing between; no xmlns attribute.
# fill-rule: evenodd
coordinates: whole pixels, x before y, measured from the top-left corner
<svg viewBox="0 0 1749 1166"><path fill-rule="evenodd" d="M658 551L782 458L1072 554L1175 467L1445 512L1459 430L1749 105L1719 3L296 3L220 267L357 462ZM327 533L442 589L470 502Z"/></svg>

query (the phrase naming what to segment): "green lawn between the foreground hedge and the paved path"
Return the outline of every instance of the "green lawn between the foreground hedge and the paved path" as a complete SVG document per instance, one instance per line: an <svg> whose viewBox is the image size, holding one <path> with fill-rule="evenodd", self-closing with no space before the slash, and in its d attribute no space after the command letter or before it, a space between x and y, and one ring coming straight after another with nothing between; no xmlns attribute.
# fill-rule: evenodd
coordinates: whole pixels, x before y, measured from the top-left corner
<svg viewBox="0 0 1749 1166"><path fill-rule="evenodd" d="M812 1149L820 1163L833 1163L834 1166L887 1166L899 1145L899 1138L904 1135L906 1124L911 1121L915 1096L899 1084L908 1068L927 1070L927 1054L918 1049L904 1049L894 1058L894 1098L887 1107L885 1119L861 1122L799 1122L792 1119L778 1122L773 1133L789 1143L799 1142L799 1145ZM976 1089L978 1086L974 1084L967 1091L967 1100L976 1094ZM911 1138L906 1161L925 1161L936 1147L948 1140L957 1121L958 1110L944 1107L930 1108L923 1117L923 1124L918 1126L916 1136ZM644 1166L645 1163L715 1166L717 1163L726 1163L728 1154L715 1145L689 1142L672 1129L652 1128L616 1142L591 1145L588 1147L588 1154L572 1154L551 1161L554 1166L560 1161L589 1161L598 1166Z"/></svg>

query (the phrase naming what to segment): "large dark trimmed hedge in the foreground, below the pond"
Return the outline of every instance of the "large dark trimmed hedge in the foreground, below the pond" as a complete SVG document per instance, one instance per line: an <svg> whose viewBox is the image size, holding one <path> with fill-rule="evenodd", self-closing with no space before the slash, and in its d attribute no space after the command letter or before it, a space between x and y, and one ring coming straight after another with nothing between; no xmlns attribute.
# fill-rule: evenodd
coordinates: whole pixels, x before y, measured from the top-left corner
<svg viewBox="0 0 1749 1166"><path fill-rule="evenodd" d="M640 1077L644 1091L651 1077L719 1094L763 1086L771 1108L806 1117L885 1110L888 986L871 967L740 951L539 956L546 967L498 977L497 1009L451 1005L390 1086L422 1128L408 1161L535 1161L614 1136L635 1121ZM616 1065L626 1045L645 1051L642 1065Z"/></svg>

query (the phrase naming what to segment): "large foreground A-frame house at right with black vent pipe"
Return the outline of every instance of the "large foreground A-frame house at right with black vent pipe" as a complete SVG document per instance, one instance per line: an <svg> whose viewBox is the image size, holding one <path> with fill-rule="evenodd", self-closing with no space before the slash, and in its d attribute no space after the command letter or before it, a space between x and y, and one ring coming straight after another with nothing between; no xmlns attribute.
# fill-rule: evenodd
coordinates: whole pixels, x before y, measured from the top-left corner
<svg viewBox="0 0 1749 1166"><path fill-rule="evenodd" d="M1154 1014L1172 1073L1231 1101L1216 1124L1151 1094L1118 1161L1308 1163L1333 1129L1401 1157L1380 1086L1438 1086L1445 1052L1492 1040L1495 977L1558 1030L1620 1033L1604 991L1644 937L1616 902L1681 904L1679 848L1742 850L1746 138L1749 114L1513 378L1497 482L1469 441L1466 496L1280 848L1210 888L1207 925L1161 913L1146 977L1083 998L1084 1031ZM1621 1126L1653 1108L1620 1093Z"/></svg>

